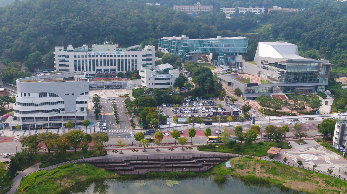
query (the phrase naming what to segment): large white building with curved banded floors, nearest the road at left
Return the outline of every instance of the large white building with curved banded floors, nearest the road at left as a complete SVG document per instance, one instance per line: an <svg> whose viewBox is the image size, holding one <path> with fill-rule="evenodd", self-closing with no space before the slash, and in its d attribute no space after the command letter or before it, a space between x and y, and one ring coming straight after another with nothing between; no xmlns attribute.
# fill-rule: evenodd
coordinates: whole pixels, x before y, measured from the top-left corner
<svg viewBox="0 0 347 194"><path fill-rule="evenodd" d="M17 79L14 115L5 123L15 129L59 128L68 120L83 126L87 117L89 85L77 73L40 75Z"/></svg>

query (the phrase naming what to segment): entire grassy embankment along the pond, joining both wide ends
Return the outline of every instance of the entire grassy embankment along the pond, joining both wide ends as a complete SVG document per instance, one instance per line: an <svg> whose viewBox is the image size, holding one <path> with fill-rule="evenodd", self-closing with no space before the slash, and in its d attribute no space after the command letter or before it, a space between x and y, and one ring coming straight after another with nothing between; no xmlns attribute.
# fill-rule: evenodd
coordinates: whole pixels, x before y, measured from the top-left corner
<svg viewBox="0 0 347 194"><path fill-rule="evenodd" d="M279 162L252 158L232 158L232 168L221 163L206 173L170 172L148 173L147 175L118 175L114 172L97 168L91 164L67 164L49 171L40 171L24 178L20 190L27 194L63 194L68 187L78 182L98 179L146 180L146 179L185 179L192 177L208 177L216 175L215 182L222 184L225 179L221 175L239 177L246 185L275 185L282 190L294 189L313 194L347 193L347 182L337 178L315 173ZM19 190L19 191L20 191ZM18 192L19 193L19 192Z"/></svg>

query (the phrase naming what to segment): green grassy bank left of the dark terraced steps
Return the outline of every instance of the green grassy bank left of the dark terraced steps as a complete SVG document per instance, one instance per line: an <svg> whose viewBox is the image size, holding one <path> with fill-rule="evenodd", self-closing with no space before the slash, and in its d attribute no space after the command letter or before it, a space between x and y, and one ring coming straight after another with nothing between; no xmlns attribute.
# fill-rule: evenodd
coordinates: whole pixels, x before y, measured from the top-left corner
<svg viewBox="0 0 347 194"><path fill-rule="evenodd" d="M26 194L62 193L65 188L78 182L116 177L118 177L116 173L97 168L92 164L66 164L25 177L17 193L22 189Z"/></svg>

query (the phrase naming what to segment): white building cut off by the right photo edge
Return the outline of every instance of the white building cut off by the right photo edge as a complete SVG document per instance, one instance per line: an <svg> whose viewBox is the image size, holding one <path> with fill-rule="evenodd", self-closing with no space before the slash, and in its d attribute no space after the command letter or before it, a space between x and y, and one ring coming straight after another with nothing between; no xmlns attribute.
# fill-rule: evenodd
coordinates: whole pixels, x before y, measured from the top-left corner
<svg viewBox="0 0 347 194"><path fill-rule="evenodd" d="M347 120L337 120L335 124L334 137L332 139L332 146L336 149L347 147Z"/></svg>

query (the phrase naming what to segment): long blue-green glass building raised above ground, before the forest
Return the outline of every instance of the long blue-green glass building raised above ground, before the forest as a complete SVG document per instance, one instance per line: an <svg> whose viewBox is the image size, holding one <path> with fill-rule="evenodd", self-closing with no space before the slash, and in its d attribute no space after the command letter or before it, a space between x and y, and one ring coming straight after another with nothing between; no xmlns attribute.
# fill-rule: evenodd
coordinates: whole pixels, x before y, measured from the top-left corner
<svg viewBox="0 0 347 194"><path fill-rule="evenodd" d="M242 53L247 52L248 38L221 37L209 39L189 39L181 37L163 37L158 39L158 50L180 56L183 61L197 63L197 54L213 54L217 58L217 65L240 67Z"/></svg>

